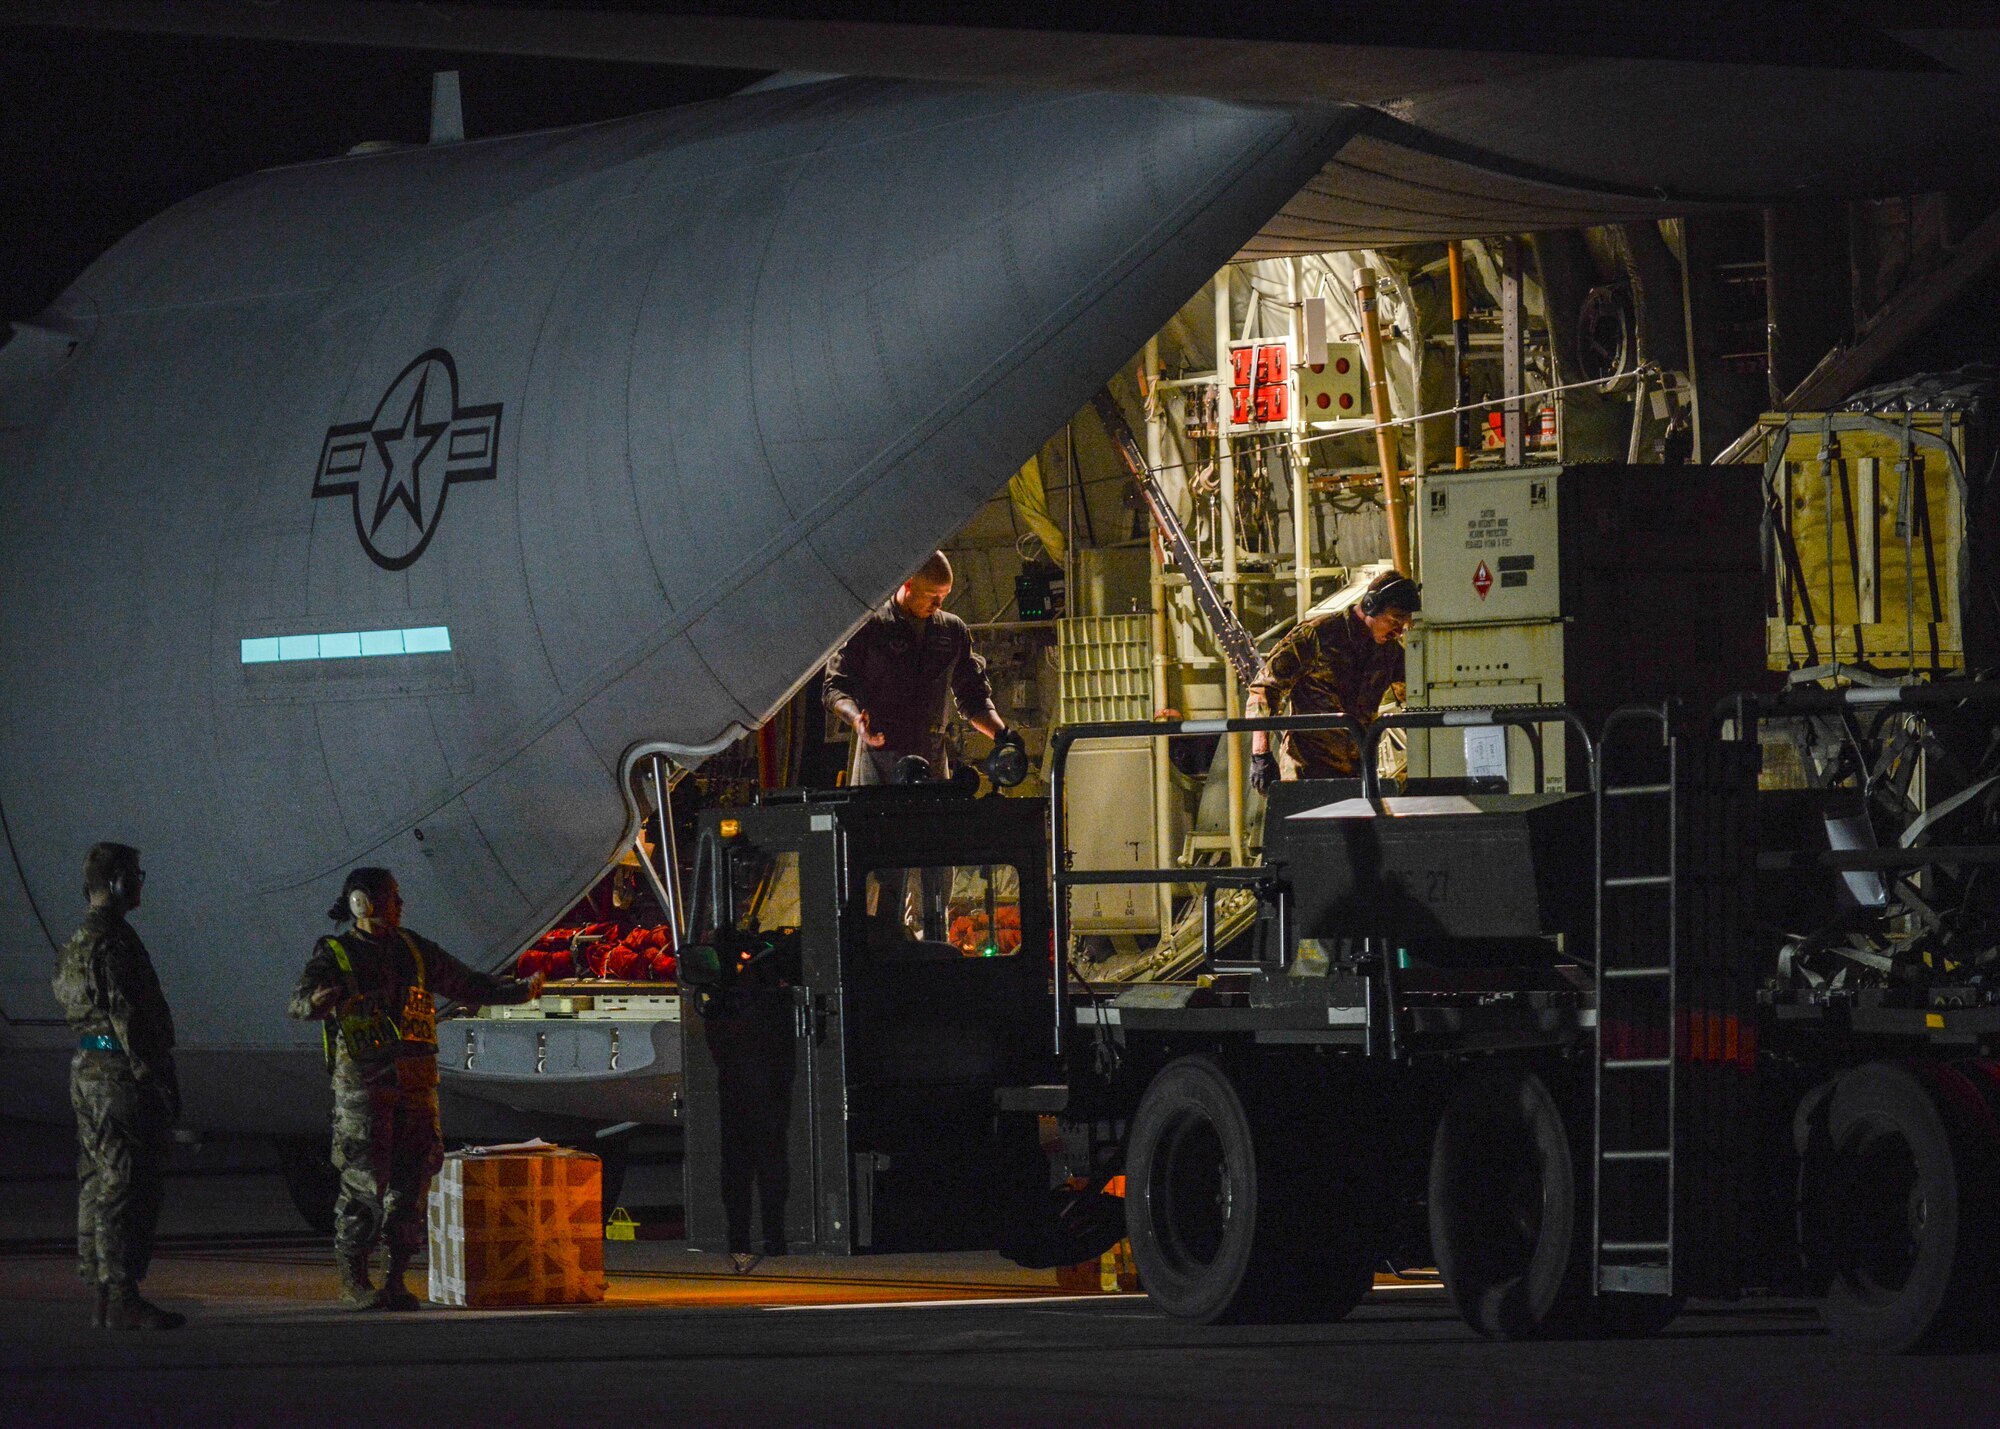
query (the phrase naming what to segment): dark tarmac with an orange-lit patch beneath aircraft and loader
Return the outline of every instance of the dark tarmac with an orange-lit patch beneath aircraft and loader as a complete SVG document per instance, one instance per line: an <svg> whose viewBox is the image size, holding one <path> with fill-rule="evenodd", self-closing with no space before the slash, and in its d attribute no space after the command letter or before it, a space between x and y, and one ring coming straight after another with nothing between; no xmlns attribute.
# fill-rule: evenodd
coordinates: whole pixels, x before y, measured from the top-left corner
<svg viewBox="0 0 2000 1429"><path fill-rule="evenodd" d="M738 1275L638 1241L606 1245L598 1307L356 1315L276 1177L216 1151L170 1183L146 1283L190 1325L106 1333L72 1269L68 1167L0 1145L6 1425L2000 1423L2000 1355L1846 1355L1800 1303L1492 1345L1426 1285L1382 1285L1338 1325L1194 1327L984 1255Z"/></svg>

